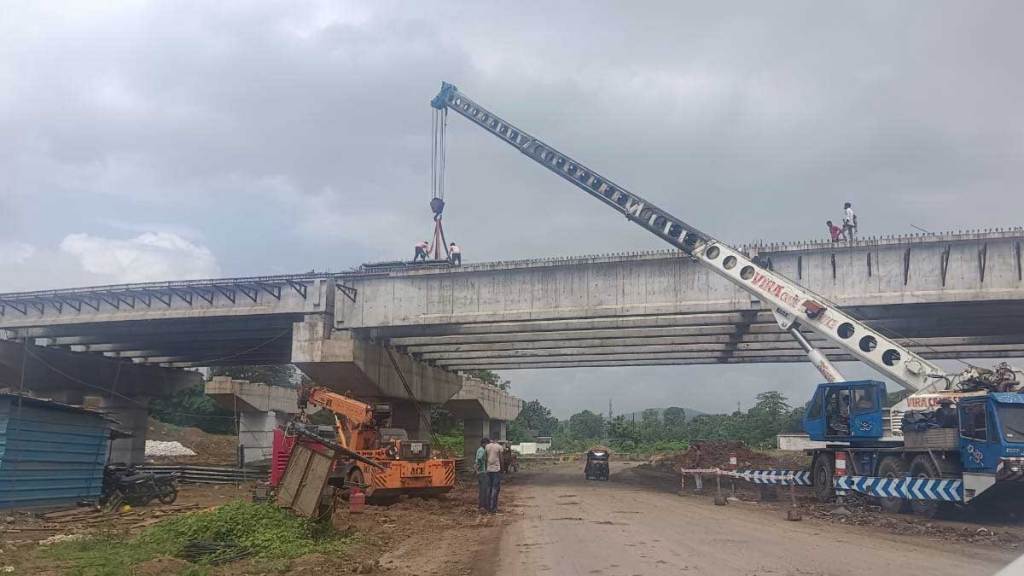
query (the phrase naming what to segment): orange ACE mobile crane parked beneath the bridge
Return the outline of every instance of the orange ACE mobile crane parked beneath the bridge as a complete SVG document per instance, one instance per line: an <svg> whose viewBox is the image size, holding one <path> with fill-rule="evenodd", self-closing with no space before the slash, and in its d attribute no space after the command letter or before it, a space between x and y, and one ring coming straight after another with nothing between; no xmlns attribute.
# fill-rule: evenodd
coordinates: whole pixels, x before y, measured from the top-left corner
<svg viewBox="0 0 1024 576"><path fill-rule="evenodd" d="M308 424L308 405L329 411L335 420L332 438L317 438L321 430ZM296 442L327 444L342 454L334 462L329 486L344 491L364 488L370 501L387 501L402 494L443 494L455 486L455 460L434 458L427 441L410 440L401 428L386 427L388 405L370 405L321 386L299 388L299 413L284 428L274 430L271 486L276 486ZM310 430L313 430L312 433Z"/></svg>

